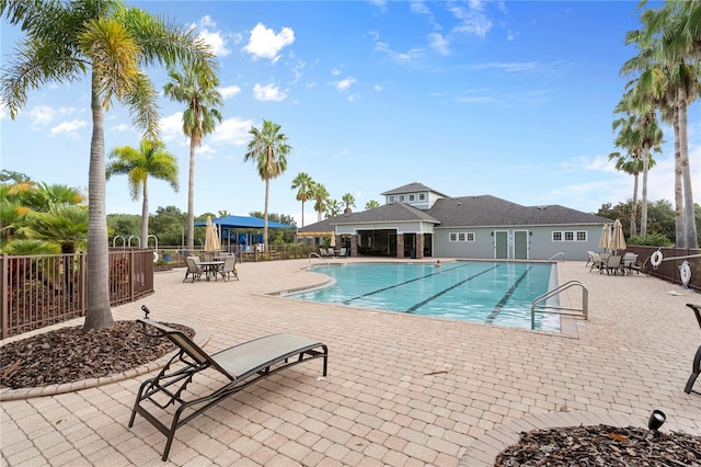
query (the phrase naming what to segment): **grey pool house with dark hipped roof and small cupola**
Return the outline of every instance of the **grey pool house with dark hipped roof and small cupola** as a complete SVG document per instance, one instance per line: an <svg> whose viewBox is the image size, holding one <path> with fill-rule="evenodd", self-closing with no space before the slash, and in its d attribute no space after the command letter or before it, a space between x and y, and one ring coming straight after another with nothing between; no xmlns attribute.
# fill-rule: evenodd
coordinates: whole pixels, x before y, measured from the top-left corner
<svg viewBox="0 0 701 467"><path fill-rule="evenodd" d="M384 205L298 230L334 236L350 255L586 260L605 217L560 205L521 206L491 195L449 197L421 183L381 193Z"/></svg>

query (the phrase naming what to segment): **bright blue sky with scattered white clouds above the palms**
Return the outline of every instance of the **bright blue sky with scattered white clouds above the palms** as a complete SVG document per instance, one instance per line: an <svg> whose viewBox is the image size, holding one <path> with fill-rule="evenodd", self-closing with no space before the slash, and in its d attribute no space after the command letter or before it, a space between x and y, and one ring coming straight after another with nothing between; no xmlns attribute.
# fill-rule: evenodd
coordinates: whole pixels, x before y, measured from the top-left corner
<svg viewBox="0 0 701 467"><path fill-rule="evenodd" d="M522 205L596 212L632 196L608 162L632 1L138 1L191 24L220 60L223 122L197 150L195 214L263 210L265 184L243 162L251 126L281 125L292 152L271 182L269 210L292 215L299 172L363 210L380 193L420 182L449 196L491 194ZM651 3L658 5L659 3ZM2 24L3 64L19 32ZM157 89L163 70L149 70ZM181 190L149 183L150 210L187 210L183 104L161 99ZM46 86L0 117L2 169L87 187L89 82ZM694 196L701 198L701 105L689 109ZM674 134L651 171L648 197L674 200ZM105 147L138 147L128 114L105 114ZM107 213L140 214L126 176L107 182ZM311 203L304 224L317 220ZM135 232L138 234L138 232Z"/></svg>

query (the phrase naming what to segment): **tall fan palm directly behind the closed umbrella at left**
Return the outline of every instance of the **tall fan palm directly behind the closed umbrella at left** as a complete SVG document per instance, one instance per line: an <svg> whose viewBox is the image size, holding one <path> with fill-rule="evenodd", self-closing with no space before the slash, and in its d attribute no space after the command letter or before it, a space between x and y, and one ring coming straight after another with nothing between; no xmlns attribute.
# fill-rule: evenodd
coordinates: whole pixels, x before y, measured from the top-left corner
<svg viewBox="0 0 701 467"><path fill-rule="evenodd" d="M204 71L204 72L203 72ZM185 68L183 73L170 70L172 82L163 87L163 93L171 100L187 105L183 113L183 133L189 138L189 175L187 179L187 249L195 247L195 149L202 139L211 134L221 123L217 109L223 104L221 93L216 89L216 77L196 67Z"/></svg>

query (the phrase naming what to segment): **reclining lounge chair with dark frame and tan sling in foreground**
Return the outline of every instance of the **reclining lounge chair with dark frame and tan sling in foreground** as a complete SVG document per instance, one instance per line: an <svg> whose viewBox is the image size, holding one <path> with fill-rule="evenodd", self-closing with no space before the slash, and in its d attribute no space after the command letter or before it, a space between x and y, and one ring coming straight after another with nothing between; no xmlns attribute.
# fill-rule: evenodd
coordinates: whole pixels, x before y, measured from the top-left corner
<svg viewBox="0 0 701 467"><path fill-rule="evenodd" d="M158 375L141 384L129 419L131 428L139 413L165 435L163 462L168 460L179 428L241 389L313 358L323 358L322 374L326 376L329 350L321 342L294 334L271 334L209 355L182 331L149 319L146 306L141 309L146 314L146 318L137 320L142 326L141 332L150 338L169 339L179 349ZM209 374L198 377L205 371ZM217 388L212 386L222 378L212 378L212 372L226 379ZM170 406L175 410L166 410ZM171 417L168 424L161 421Z"/></svg>

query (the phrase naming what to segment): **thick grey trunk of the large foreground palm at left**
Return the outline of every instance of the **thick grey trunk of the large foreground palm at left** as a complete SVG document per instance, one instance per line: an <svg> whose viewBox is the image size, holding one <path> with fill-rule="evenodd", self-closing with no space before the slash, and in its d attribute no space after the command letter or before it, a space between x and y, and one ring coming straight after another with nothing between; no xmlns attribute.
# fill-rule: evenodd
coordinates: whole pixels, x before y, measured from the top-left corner
<svg viewBox="0 0 701 467"><path fill-rule="evenodd" d="M92 139L88 174L88 310L83 330L110 328L114 324L110 308L110 247L105 208L105 137L104 114L97 80L92 75Z"/></svg>

